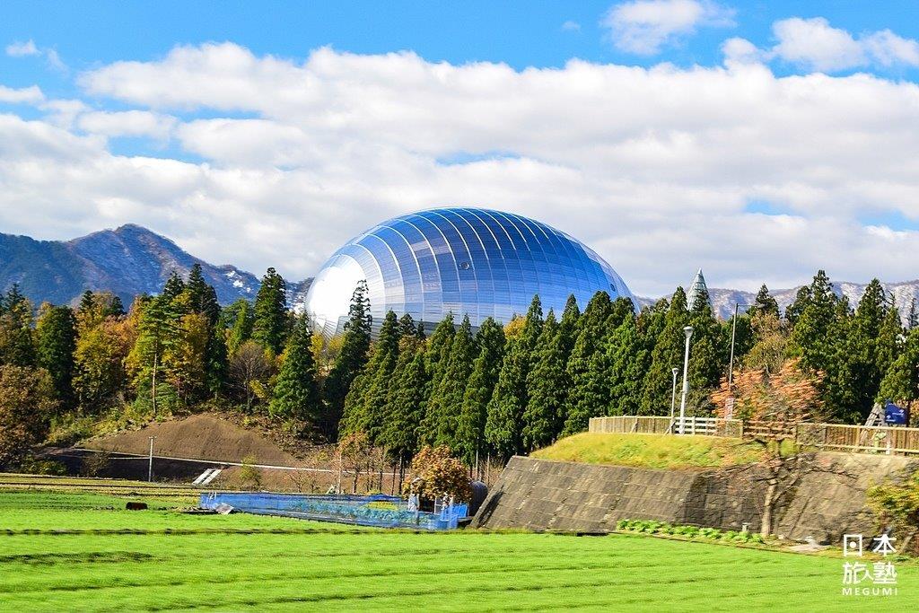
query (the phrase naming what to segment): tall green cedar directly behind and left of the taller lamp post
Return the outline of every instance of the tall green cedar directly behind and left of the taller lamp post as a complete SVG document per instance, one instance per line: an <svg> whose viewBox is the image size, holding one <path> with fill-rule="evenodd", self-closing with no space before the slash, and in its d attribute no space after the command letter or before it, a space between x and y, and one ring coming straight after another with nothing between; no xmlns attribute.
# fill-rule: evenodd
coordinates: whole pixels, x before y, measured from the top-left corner
<svg viewBox="0 0 919 613"><path fill-rule="evenodd" d="M641 393L641 414L670 414L670 400L673 392L673 369L683 370L686 335L683 328L689 324L686 312L686 292L676 288L673 299L664 318L664 329L657 335L651 356L651 368L644 377ZM677 386L680 382L677 379Z"/></svg>

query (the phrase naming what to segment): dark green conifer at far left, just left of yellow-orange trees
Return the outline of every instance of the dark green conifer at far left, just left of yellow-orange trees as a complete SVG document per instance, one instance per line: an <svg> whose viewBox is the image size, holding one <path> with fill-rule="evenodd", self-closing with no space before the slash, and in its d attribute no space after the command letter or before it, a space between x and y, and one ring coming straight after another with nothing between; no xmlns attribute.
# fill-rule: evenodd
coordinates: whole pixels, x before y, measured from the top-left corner
<svg viewBox="0 0 919 613"><path fill-rule="evenodd" d="M39 366L48 371L62 409L72 409L76 319L68 306L43 304L35 327Z"/></svg>

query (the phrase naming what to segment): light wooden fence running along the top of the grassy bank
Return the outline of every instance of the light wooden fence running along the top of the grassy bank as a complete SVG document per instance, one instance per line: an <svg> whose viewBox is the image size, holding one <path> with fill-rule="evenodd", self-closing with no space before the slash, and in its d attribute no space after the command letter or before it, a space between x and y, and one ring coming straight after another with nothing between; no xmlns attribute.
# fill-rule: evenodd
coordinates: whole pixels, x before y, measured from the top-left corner
<svg viewBox="0 0 919 613"><path fill-rule="evenodd" d="M679 434L679 430L679 418L636 415L592 417L588 428L589 432L633 434ZM744 429L738 419L686 417L684 421L688 435L744 438L755 436L757 431L753 424ZM802 423L794 426L794 437L801 444L830 451L919 454L919 428Z"/></svg>

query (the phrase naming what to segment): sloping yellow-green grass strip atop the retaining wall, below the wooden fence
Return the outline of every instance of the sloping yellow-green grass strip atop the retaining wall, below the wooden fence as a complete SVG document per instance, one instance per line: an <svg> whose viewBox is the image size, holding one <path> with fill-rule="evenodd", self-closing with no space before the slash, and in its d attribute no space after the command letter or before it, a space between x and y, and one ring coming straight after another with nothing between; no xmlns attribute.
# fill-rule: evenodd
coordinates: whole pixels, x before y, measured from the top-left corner
<svg viewBox="0 0 919 613"><path fill-rule="evenodd" d="M539 449L531 455L541 460L688 469L755 462L762 459L762 450L736 438L584 432L562 438L551 447Z"/></svg>

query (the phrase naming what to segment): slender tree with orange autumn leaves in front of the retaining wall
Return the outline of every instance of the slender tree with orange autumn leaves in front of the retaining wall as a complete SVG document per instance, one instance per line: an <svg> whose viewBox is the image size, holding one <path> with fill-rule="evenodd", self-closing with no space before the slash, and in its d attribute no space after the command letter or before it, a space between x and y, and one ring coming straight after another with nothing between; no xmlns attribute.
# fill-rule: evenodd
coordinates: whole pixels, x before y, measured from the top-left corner
<svg viewBox="0 0 919 613"><path fill-rule="evenodd" d="M821 373L811 373L800 360L789 359L777 373L766 369L742 370L729 388L721 381L712 402L720 417L729 413L743 419L743 436L763 449L763 460L753 471L754 481L765 482L760 532L768 536L779 503L805 474L820 470L813 454L798 434L798 425L822 416Z"/></svg>

